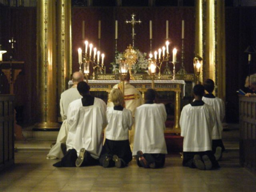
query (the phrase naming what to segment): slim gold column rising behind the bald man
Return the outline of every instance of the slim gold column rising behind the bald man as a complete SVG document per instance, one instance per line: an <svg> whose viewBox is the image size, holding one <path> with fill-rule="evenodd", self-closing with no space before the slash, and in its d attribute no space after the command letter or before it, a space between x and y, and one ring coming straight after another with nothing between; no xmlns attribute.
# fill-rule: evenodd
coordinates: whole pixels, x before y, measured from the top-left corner
<svg viewBox="0 0 256 192"><path fill-rule="evenodd" d="M60 101L60 94L68 88L68 80L72 74L71 0L57 0L57 44L58 101Z"/></svg>

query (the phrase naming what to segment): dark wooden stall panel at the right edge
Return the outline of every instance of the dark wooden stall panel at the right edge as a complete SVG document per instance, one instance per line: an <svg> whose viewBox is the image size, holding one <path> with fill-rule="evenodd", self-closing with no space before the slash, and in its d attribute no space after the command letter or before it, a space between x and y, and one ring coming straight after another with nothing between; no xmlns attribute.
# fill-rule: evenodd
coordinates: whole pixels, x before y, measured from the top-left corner
<svg viewBox="0 0 256 192"><path fill-rule="evenodd" d="M256 96L239 97L240 164L256 173Z"/></svg>

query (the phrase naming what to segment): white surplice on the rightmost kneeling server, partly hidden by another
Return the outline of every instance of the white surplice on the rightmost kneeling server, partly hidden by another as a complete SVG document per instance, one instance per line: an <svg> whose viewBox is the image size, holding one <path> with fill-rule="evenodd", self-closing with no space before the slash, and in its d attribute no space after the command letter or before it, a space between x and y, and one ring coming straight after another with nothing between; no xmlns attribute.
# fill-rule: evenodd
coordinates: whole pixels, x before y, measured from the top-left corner
<svg viewBox="0 0 256 192"><path fill-rule="evenodd" d="M222 138L222 121L225 116L225 105L221 98L202 98L203 102L213 107L215 115L216 115L216 123L212 129L212 139L221 139Z"/></svg>

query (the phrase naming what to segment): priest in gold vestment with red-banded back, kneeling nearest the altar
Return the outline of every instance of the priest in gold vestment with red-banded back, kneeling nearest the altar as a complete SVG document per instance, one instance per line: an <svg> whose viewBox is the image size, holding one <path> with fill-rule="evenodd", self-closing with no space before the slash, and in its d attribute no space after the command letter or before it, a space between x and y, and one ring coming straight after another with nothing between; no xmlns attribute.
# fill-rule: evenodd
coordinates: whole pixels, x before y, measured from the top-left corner
<svg viewBox="0 0 256 192"><path fill-rule="evenodd" d="M116 84L113 89L120 89L122 90L122 84ZM124 103L125 108L132 111L132 116L134 117L135 110L138 106L142 105L143 99L140 91L138 91L134 86L130 84L130 73L127 73L126 78L124 79ZM108 101L108 106L113 107L114 104ZM132 130L129 131L129 142L131 150L133 148L133 141L134 141L134 132L135 132L135 124L132 126Z"/></svg>

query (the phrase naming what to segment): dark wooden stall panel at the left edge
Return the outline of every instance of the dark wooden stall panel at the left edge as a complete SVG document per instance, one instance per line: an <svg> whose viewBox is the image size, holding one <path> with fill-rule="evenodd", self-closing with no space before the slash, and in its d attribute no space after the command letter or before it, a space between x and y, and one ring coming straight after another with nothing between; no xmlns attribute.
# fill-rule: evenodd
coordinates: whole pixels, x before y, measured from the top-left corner
<svg viewBox="0 0 256 192"><path fill-rule="evenodd" d="M14 164L14 95L0 94L0 171Z"/></svg>

